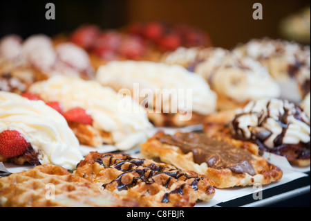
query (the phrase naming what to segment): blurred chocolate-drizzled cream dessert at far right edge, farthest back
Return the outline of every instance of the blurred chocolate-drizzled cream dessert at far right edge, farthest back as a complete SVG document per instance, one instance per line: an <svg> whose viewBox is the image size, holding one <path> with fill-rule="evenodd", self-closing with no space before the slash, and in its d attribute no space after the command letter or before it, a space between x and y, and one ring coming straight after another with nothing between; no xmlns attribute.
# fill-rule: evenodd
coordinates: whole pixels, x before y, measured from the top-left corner
<svg viewBox="0 0 311 221"><path fill-rule="evenodd" d="M252 39L234 49L238 55L249 56L266 67L271 76L283 87L283 98L301 100L310 91L310 46L302 46L296 42L281 39ZM298 93L292 89L288 93L288 85L294 81Z"/></svg>

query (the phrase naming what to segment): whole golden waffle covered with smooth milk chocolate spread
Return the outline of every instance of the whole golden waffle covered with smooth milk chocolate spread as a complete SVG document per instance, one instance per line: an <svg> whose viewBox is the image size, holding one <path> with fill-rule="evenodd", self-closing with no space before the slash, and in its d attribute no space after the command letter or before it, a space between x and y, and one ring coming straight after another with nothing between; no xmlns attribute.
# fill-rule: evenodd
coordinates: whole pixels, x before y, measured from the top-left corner
<svg viewBox="0 0 311 221"><path fill-rule="evenodd" d="M195 132L158 132L141 145L147 157L159 157L182 170L206 175L217 188L270 184L282 170L258 155L255 145L211 139Z"/></svg>

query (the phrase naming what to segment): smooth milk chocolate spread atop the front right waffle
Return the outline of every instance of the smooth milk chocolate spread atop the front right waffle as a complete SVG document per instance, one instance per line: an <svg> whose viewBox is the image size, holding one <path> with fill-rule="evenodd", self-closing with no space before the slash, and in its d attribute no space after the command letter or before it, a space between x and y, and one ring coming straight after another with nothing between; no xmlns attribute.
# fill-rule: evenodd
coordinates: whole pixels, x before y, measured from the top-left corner
<svg viewBox="0 0 311 221"><path fill-rule="evenodd" d="M165 134L158 139L162 143L177 146L185 154L192 152L195 163L207 163L210 168L215 169L229 168L234 173L256 174L249 163L252 154L224 141L210 139L204 134L194 132L174 136Z"/></svg>

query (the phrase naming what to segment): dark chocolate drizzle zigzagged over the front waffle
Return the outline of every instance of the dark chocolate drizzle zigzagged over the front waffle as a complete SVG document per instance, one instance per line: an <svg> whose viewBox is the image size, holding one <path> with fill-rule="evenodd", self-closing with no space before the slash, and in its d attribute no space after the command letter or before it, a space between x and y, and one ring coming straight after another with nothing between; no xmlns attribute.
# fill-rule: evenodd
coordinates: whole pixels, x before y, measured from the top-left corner
<svg viewBox="0 0 311 221"><path fill-rule="evenodd" d="M196 176L191 176L188 175L187 173L183 173L182 170L178 170L177 168L169 168L167 166L158 166L154 163L151 163L149 166L142 166L144 163L145 159L135 159L130 157L128 154L123 154L124 159L116 159L113 154L105 154L101 157L98 157L97 159L94 159L93 163L99 163L101 166L104 166L104 168L110 168L113 167L117 170L120 170L124 173L119 175L117 179L113 179L113 181L103 184L102 186L106 188L107 185L113 184L114 182L117 182L117 190L118 191L123 191L123 190L128 190L129 188L132 188L133 186L137 185L140 182L144 182L146 184L153 184L154 180L153 177L157 175L167 175L169 178L163 185L165 188L168 188L169 183L171 182L171 179L182 179L182 180L187 180L187 179L194 179L189 186L194 189L194 191L198 190L198 182L200 180L203 180L204 177L196 177ZM102 159L109 157L109 163L104 164ZM122 183L122 177L124 175L127 175L129 173L132 173L135 175L135 173L138 174L138 176L134 176L132 181L129 184L124 184ZM177 193L182 195L182 189L186 186L187 184L182 184L180 187L174 189L173 191L169 193L165 193L162 202L167 203L169 202L169 195L173 193ZM214 188L209 186L207 188L207 193L214 193Z"/></svg>

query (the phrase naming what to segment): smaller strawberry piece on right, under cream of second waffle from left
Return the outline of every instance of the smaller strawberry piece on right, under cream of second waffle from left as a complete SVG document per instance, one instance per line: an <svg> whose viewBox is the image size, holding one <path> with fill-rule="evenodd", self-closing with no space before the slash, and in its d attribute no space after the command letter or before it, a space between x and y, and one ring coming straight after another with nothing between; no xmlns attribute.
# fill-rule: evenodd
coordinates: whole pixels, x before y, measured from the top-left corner
<svg viewBox="0 0 311 221"><path fill-rule="evenodd" d="M64 118L67 121L83 123L86 125L92 125L93 119L90 115L86 114L85 109L81 107L75 107L73 109L68 109L68 111L63 113Z"/></svg>

